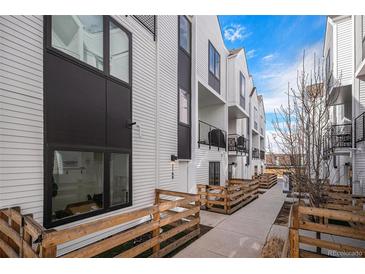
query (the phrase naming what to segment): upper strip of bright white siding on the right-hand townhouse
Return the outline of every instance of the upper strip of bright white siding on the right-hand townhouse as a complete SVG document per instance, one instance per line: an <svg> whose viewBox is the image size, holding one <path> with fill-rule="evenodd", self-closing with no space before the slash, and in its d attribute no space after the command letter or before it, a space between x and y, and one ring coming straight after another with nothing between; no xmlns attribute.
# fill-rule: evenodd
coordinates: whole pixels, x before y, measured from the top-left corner
<svg viewBox="0 0 365 274"><path fill-rule="evenodd" d="M337 78L341 82L351 81L352 69L352 20L346 18L337 23Z"/></svg>

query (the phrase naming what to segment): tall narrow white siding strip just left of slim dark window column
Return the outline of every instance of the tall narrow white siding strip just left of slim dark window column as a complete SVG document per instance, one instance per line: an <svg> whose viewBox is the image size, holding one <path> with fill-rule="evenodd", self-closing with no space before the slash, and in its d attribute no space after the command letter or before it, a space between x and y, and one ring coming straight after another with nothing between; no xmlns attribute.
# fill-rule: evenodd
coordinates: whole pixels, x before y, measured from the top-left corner
<svg viewBox="0 0 365 274"><path fill-rule="evenodd" d="M179 190L179 165L174 166L172 179L171 155L177 155L178 96L178 17L158 17L158 158L159 181L163 189Z"/></svg>

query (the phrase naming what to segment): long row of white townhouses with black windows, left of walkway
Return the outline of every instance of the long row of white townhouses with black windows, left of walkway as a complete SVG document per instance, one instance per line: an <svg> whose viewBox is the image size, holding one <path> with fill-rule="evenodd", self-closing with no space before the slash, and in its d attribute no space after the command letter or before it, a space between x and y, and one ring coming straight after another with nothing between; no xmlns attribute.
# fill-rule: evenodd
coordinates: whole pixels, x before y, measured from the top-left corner
<svg viewBox="0 0 365 274"><path fill-rule="evenodd" d="M217 16L0 16L0 111L0 208L46 228L264 171L263 98Z"/></svg>

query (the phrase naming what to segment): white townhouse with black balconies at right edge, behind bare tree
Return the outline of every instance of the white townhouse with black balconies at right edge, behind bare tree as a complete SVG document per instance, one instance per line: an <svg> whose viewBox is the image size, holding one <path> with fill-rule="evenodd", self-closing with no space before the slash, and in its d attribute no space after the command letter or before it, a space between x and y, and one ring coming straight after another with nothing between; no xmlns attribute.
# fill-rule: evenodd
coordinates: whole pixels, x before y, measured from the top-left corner
<svg viewBox="0 0 365 274"><path fill-rule="evenodd" d="M329 16L323 47L330 85L330 182L365 185L364 16ZM353 188L353 191L358 190Z"/></svg>

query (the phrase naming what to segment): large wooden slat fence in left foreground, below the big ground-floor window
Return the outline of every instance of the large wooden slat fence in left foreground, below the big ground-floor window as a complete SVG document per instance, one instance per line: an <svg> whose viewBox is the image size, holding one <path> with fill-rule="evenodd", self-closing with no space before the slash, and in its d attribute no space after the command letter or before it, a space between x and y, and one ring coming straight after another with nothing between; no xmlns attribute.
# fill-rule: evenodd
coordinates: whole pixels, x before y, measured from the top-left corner
<svg viewBox="0 0 365 274"><path fill-rule="evenodd" d="M19 212L14 213L14 210L6 209L1 212L5 213L6 216L9 216L9 213L6 212L11 212L10 217L15 216L11 220L16 220L16 225L13 224L13 221L0 223L0 235L6 235L6 237L1 237L0 241L0 255L5 255L4 257L57 257L57 247L61 244L141 220L144 221L128 230L91 243L61 257L94 257L131 242L132 244L127 245L127 248L114 257L136 257L142 253L143 256L148 257L164 257L200 234L199 195L161 189L156 190L156 203L151 207L101 218L61 230L44 230L33 220L30 221L27 216L22 216ZM17 229L17 226L20 227L20 230ZM22 238L24 241L19 240ZM139 244L135 245L135 239L143 240L137 241ZM14 242L17 245L14 245ZM22 242L23 245L20 248L18 244Z"/></svg>

